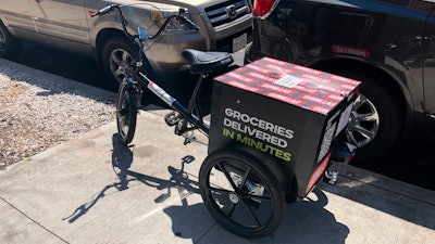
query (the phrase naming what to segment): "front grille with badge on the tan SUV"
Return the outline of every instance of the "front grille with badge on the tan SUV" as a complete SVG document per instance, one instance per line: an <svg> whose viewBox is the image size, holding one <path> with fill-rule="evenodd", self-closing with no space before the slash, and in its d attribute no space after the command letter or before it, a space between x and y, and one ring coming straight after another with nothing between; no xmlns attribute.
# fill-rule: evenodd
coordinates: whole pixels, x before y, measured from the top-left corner
<svg viewBox="0 0 435 244"><path fill-rule="evenodd" d="M231 0L206 8L206 14L214 28L222 28L251 13L247 0Z"/></svg>

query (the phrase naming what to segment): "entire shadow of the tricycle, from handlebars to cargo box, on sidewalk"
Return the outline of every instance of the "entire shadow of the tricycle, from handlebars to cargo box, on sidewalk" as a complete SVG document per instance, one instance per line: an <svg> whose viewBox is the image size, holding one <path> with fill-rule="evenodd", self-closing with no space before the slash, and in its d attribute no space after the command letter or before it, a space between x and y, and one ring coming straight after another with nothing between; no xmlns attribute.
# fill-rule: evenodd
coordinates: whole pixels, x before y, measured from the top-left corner
<svg viewBox="0 0 435 244"><path fill-rule="evenodd" d="M198 178L184 171L185 165L195 160L192 156L183 157L179 168L169 166L169 178L162 179L130 170L135 145L122 145L116 133L112 136L112 167L117 180L103 187L95 197L78 206L62 220L73 223L84 217L107 194L113 194L113 189L115 193L122 192L128 190L132 182L140 182L164 191L154 198L156 203L163 203L174 194L175 190L182 205L171 205L163 208L163 211L172 220L173 234L190 239L194 243L345 243L349 233L349 229L337 222L334 215L324 208L328 202L326 195L320 190L314 190L316 200L287 206L283 223L271 236L256 240L239 237L220 227L203 203L190 205L187 203L189 195L195 193L199 195Z"/></svg>

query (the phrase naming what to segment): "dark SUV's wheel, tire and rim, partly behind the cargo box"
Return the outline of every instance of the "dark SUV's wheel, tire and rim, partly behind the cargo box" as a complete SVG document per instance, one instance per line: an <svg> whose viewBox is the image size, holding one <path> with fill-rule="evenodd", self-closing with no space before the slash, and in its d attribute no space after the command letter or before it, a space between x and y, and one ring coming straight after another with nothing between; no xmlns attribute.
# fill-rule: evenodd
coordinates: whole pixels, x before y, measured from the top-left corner
<svg viewBox="0 0 435 244"><path fill-rule="evenodd" d="M394 147L400 137L402 119L399 103L380 80L357 73L336 74L362 82L360 95L353 105L346 129L346 137L348 142L358 146L357 164L358 162L364 165L373 164L377 162L376 158Z"/></svg>

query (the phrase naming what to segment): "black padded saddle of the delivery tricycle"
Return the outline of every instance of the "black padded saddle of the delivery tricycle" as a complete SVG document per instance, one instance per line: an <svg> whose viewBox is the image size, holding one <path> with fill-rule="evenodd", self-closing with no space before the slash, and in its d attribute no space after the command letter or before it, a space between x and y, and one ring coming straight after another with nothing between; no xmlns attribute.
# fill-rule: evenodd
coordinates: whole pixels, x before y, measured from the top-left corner
<svg viewBox="0 0 435 244"><path fill-rule="evenodd" d="M229 66L234 62L227 52L202 52L194 49L185 49L183 57L190 64L191 74L211 73Z"/></svg>

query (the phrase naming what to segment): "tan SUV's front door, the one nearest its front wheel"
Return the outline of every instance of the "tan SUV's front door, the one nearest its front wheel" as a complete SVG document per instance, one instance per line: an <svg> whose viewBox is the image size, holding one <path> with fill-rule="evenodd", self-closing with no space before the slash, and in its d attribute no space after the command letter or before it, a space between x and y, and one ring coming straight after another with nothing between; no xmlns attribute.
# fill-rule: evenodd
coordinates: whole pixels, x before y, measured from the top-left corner
<svg viewBox="0 0 435 244"><path fill-rule="evenodd" d="M36 30L66 41L88 43L85 0L29 0Z"/></svg>

